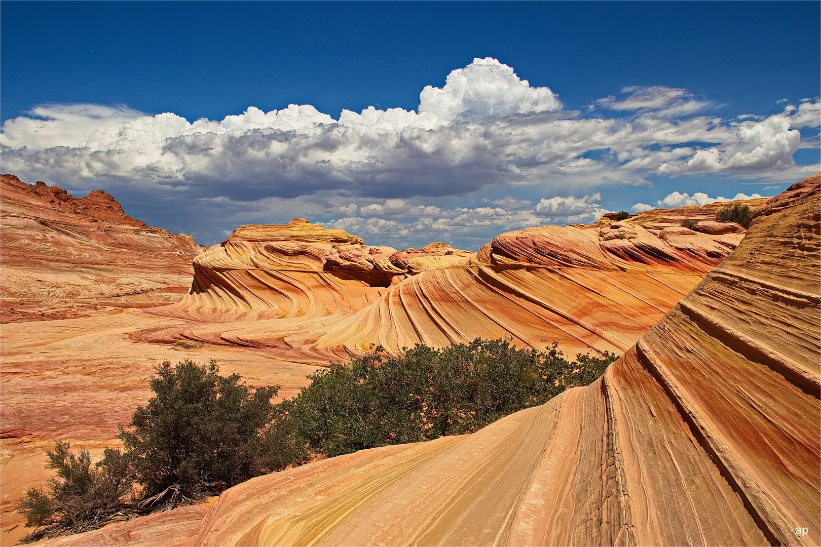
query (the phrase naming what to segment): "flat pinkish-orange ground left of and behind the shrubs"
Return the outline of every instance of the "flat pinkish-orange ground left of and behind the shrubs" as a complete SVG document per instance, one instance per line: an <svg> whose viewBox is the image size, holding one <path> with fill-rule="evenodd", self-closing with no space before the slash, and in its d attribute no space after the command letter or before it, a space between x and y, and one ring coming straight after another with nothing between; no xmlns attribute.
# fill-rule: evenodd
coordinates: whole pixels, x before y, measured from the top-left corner
<svg viewBox="0 0 821 547"><path fill-rule="evenodd" d="M270 358L254 349L204 344L191 349L146 344L128 333L172 326L140 312L0 327L0 545L15 545L30 530L15 512L25 490L48 476L45 451L54 440L102 454L119 441L117 424L131 421L151 394L149 378L160 362L216 359L222 373L236 372L249 385L282 385L291 397L308 384L315 367Z"/></svg>

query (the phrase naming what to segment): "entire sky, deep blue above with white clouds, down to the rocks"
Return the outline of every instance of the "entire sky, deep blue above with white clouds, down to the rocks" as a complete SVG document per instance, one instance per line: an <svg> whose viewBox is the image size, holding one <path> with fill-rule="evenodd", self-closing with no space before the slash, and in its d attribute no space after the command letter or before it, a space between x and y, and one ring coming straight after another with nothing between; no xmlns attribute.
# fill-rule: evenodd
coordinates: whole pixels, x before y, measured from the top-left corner
<svg viewBox="0 0 821 547"><path fill-rule="evenodd" d="M477 248L604 211L774 195L818 170L819 2L5 1L0 15L3 171L106 189L203 244L303 216L369 244Z"/></svg>

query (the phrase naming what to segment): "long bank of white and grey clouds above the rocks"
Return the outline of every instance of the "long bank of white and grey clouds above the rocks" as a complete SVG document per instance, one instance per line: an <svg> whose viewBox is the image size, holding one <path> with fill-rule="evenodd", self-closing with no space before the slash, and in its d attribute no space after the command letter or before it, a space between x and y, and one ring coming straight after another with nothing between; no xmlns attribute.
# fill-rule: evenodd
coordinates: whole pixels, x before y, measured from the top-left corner
<svg viewBox="0 0 821 547"><path fill-rule="evenodd" d="M697 115L706 107L686 89L630 87L582 114L487 57L452 71L442 88L426 86L417 111L369 107L334 119L291 104L189 122L172 112L43 105L5 121L0 144L4 171L24 180L120 187L226 223L302 212L414 241L594 220L607 212L597 190L651 186L652 175L782 182L814 169L792 156L804 144L799 129L819 126L817 99L735 120ZM513 201L475 203L502 187ZM474 196L476 207L456 207L459 196Z"/></svg>

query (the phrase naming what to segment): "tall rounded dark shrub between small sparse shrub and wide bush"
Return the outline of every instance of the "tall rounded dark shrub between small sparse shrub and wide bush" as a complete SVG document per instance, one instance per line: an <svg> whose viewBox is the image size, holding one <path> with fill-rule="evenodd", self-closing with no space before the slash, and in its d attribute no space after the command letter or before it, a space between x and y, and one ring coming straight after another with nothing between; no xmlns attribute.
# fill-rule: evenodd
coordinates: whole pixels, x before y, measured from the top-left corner
<svg viewBox="0 0 821 547"><path fill-rule="evenodd" d="M218 372L213 361L163 362L150 381L154 397L120 428L142 504L172 507L263 472L259 433L279 386L253 390L238 374Z"/></svg>

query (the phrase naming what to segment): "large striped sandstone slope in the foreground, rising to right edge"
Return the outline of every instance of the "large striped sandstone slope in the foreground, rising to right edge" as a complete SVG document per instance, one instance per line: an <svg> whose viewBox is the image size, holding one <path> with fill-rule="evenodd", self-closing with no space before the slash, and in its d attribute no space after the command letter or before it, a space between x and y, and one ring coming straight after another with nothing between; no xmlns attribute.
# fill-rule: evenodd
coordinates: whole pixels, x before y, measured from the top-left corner
<svg viewBox="0 0 821 547"><path fill-rule="evenodd" d="M759 208L592 385L237 485L195 545L819 545L819 217L819 175Z"/></svg>

